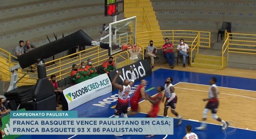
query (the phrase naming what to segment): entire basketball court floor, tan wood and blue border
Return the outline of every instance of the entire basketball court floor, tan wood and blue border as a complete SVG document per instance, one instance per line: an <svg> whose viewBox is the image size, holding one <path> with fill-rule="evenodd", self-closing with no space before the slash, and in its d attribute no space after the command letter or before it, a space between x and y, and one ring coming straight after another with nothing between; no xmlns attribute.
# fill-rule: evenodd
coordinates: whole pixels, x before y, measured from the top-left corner
<svg viewBox="0 0 256 139"><path fill-rule="evenodd" d="M214 73L214 72L212 72ZM164 85L167 77L173 78L173 84L178 96L176 111L182 116L183 123L177 126L174 119L174 135L155 135L152 139L182 139L186 135L185 127L191 124L193 128L201 124L202 113L208 97L209 80L211 77L218 79L217 86L220 91L220 105L217 115L223 120L229 121L230 126L226 131L221 130L221 123L212 119L208 114L208 130L195 132L200 139L240 139L255 138L256 136L256 79L214 75L190 71L178 71L158 69L152 72L152 76L145 78L148 81L146 92L153 96L156 87ZM134 85L139 84L139 81ZM136 87L136 86L135 86ZM135 88L133 88L135 89ZM78 111L78 117L114 117L114 108L117 103L117 91L106 94L89 101L73 111ZM130 94L132 96L133 94ZM146 117L151 104L141 100L140 113L130 117ZM161 103L159 117L163 117L163 104ZM170 109L168 116L173 117ZM23 135L19 139L141 139L144 135Z"/></svg>

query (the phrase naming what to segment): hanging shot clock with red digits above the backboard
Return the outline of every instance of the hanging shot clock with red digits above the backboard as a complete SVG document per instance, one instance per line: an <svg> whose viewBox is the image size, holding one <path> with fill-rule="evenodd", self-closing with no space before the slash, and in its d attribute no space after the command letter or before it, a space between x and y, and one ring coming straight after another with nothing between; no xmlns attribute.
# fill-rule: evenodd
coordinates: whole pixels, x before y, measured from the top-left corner
<svg viewBox="0 0 256 139"><path fill-rule="evenodd" d="M123 0L105 0L105 16L115 16L124 12Z"/></svg>

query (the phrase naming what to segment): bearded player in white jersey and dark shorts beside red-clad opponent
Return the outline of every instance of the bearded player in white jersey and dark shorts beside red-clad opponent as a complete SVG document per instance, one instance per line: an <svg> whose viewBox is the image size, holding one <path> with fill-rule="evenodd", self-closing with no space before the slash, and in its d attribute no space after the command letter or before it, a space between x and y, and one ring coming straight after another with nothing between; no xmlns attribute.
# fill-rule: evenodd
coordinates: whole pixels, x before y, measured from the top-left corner
<svg viewBox="0 0 256 139"><path fill-rule="evenodd" d="M174 86L171 84L173 81L172 77L168 77L165 81L164 85L164 95L166 97L165 103L164 103L164 117L167 116L168 108L171 107L171 112L177 116L178 118L178 125L182 123L182 117L179 116L177 112L175 112L176 104L178 101L178 97L175 94ZM162 99L162 102L164 102L164 98Z"/></svg>

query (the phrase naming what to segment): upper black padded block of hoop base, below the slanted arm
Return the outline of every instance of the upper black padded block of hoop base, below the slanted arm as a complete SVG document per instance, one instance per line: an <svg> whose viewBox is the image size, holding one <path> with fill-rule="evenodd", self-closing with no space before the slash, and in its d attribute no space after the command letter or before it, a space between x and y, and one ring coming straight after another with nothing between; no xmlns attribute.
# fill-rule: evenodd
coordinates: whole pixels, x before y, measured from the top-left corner
<svg viewBox="0 0 256 139"><path fill-rule="evenodd" d="M54 87L46 77L37 80L35 92L33 93L33 97L36 99L36 101L43 100L54 94Z"/></svg>

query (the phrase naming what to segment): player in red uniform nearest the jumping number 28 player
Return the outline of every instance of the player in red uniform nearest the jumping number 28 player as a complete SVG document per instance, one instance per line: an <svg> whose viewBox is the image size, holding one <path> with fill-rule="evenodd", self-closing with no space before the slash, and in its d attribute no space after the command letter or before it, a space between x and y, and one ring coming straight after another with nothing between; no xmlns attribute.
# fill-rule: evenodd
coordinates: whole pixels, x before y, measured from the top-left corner
<svg viewBox="0 0 256 139"><path fill-rule="evenodd" d="M147 85L147 81L146 80L141 80L140 81L140 85L138 86L138 88L136 89L134 95L131 97L130 99L130 104L131 104L131 110L128 112L128 116L129 115L136 115L139 111L139 101L140 99L145 99L145 86Z"/></svg>

